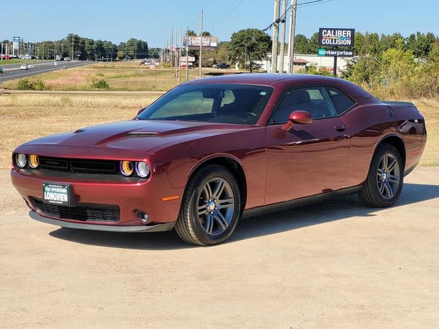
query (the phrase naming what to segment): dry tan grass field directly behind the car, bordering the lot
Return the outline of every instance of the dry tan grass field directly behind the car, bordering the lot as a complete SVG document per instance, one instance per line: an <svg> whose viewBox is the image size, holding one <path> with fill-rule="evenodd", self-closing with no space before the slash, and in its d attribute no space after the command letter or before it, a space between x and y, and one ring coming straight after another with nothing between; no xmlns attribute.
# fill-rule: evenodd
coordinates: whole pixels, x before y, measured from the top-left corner
<svg viewBox="0 0 439 329"><path fill-rule="evenodd" d="M10 168L12 151L26 141L86 125L132 119L157 97L142 93L0 94L0 169ZM439 100L410 101L427 121L427 147L420 165L439 166Z"/></svg>

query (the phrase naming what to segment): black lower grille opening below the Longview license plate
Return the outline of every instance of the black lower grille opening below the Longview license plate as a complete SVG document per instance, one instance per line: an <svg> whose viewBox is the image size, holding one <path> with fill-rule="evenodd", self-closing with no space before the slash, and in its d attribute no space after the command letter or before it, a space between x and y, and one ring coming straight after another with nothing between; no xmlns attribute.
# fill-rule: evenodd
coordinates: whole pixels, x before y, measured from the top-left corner
<svg viewBox="0 0 439 329"><path fill-rule="evenodd" d="M77 221L110 221L116 222L121 219L121 210L118 206L104 205L79 205L73 207L45 204L39 199L32 202L41 212L58 217L59 219L75 219Z"/></svg>

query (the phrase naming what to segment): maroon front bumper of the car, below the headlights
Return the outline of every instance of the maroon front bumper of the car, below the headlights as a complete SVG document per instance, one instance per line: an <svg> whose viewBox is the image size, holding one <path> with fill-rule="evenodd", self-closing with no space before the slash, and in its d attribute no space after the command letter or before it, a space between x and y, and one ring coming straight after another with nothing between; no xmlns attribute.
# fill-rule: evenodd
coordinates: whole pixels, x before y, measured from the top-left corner
<svg viewBox="0 0 439 329"><path fill-rule="evenodd" d="M180 211L181 196L184 188L171 188L165 171L153 173L150 180L127 180L97 178L95 175L59 175L43 170L13 168L12 184L27 204L34 210L32 218L44 218L46 223L58 226L84 228L88 230L110 230L119 232L144 232L154 230L159 224L174 222ZM118 221L88 221L67 219L43 212L34 202L43 199L43 183L70 184L78 206L118 206ZM163 197L178 195L178 199L163 201ZM70 207L69 207L70 208ZM74 207L73 207L74 208ZM139 212L148 215L148 223L139 220ZM38 218L36 216L38 215ZM166 226L167 228L168 226ZM165 229L164 229L165 230Z"/></svg>

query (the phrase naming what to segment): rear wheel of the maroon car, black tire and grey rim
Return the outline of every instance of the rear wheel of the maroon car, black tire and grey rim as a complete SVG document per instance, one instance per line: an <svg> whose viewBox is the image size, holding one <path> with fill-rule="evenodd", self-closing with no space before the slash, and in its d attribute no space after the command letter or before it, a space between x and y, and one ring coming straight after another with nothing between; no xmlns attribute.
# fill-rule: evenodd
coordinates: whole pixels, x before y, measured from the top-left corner
<svg viewBox="0 0 439 329"><path fill-rule="evenodd" d="M383 163L388 163L384 161L383 157L387 159L396 160L394 164L392 173L398 173L399 182L397 185L394 177L396 175L390 175L390 173L382 173ZM397 166L397 167L396 167ZM396 200L399 199L401 190L403 188L404 182L404 167L403 160L399 151L390 144L383 143L377 147L375 154L370 162L370 168L368 171L368 177L364 182L361 191L359 192L359 197L364 204L373 208L385 208L392 206Z"/></svg>

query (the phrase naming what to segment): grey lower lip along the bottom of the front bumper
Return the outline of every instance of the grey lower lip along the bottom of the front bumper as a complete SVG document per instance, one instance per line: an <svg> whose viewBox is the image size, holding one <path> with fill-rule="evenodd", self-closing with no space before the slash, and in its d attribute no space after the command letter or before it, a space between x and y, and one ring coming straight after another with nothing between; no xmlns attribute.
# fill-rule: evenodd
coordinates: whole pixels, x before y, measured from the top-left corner
<svg viewBox="0 0 439 329"><path fill-rule="evenodd" d="M60 221L58 219L50 219L39 215L34 210L29 211L29 216L36 221L61 226L62 228L78 228L81 230L107 231L107 232L164 232L174 228L175 222L156 224L151 226L110 226L110 225L93 225L85 223L73 223L70 221Z"/></svg>

